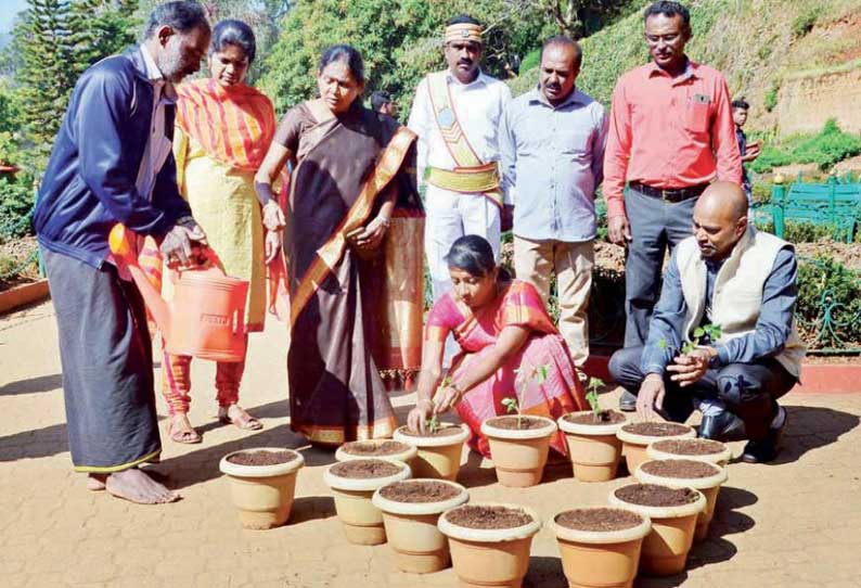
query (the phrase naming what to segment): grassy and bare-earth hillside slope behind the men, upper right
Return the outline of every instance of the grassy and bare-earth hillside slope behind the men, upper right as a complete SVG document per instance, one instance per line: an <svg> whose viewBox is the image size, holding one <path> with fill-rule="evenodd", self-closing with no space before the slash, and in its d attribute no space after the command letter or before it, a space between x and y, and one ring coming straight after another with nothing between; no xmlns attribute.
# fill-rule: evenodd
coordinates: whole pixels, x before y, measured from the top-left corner
<svg viewBox="0 0 861 588"><path fill-rule="evenodd" d="M751 128L786 135L807 130L801 123L821 128L834 116L843 128L861 131L861 93L854 93L861 92L856 84L861 1L693 0L689 5L694 30L689 54L721 69L733 97L750 102ZM619 75L648 59L642 27L637 12L583 39L578 87L608 104ZM537 79L532 68L511 86L522 93ZM817 86L821 79L825 86ZM820 104L820 97L830 101Z"/></svg>

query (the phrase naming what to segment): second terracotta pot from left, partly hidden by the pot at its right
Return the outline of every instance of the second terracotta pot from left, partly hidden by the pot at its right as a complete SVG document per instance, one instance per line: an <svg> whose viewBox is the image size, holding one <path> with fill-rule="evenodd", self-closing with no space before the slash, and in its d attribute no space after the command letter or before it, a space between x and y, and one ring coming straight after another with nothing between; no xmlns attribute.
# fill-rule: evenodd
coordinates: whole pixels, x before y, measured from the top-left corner
<svg viewBox="0 0 861 588"><path fill-rule="evenodd" d="M368 475L354 476L351 469L364 469ZM374 491L393 482L411 475L406 463L381 459L342 461L323 472L323 481L335 495L335 512L344 527L347 540L356 545L386 542L383 513L371 501Z"/></svg>

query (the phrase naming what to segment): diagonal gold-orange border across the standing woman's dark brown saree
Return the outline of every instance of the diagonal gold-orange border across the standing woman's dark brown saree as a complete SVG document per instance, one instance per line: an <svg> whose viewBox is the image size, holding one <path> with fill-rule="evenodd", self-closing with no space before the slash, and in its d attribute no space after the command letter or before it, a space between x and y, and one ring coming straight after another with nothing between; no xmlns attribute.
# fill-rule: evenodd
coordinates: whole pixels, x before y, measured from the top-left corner
<svg viewBox="0 0 861 588"><path fill-rule="evenodd" d="M290 324L293 328L305 306L314 295L317 289L329 277L332 269L338 264L346 248L347 232L360 227L370 216L376 195L391 181L400 169L410 144L415 140L415 133L407 127L400 127L388 142L380 163L374 168L371 177L362 186L359 197L340 222L335 233L317 251L317 257L311 267L305 272L296 294L291 299Z"/></svg>

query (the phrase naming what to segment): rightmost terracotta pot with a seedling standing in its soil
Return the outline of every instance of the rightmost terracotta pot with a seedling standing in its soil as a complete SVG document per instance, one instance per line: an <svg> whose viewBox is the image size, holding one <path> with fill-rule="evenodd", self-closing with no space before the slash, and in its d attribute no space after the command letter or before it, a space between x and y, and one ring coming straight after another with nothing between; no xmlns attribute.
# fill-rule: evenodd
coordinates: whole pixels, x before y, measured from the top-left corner
<svg viewBox="0 0 861 588"><path fill-rule="evenodd" d="M571 412L561 417L556 423L565 433L568 456L571 459L574 477L582 482L606 482L616 477L621 457L621 440L616 432L627 422L625 414L604 411L619 422L588 422L594 417L591 410Z"/></svg>

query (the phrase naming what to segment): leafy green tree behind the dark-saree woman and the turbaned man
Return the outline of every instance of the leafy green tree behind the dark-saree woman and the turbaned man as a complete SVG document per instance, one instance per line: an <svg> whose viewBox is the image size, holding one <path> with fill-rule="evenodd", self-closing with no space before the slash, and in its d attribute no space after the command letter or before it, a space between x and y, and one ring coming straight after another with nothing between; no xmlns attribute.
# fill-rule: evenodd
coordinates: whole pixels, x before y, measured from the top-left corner
<svg viewBox="0 0 861 588"><path fill-rule="evenodd" d="M502 78L514 75L521 56L553 31L541 11L518 0L297 0L282 21L260 85L284 112L316 94L323 49L348 42L364 59L365 93L387 90L406 113L422 76L445 66L442 28L459 13L485 26L484 68Z"/></svg>

